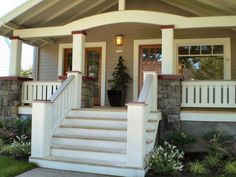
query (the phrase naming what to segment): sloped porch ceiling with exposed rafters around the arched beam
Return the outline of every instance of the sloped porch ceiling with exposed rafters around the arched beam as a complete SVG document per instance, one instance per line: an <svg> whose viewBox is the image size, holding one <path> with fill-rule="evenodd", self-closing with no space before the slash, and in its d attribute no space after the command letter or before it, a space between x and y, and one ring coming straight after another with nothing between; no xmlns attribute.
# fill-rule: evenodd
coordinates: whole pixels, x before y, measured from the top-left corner
<svg viewBox="0 0 236 177"><path fill-rule="evenodd" d="M236 15L235 0L158 1L196 16ZM11 37L16 29L61 26L77 19L117 9L118 0L30 0L0 19L0 35ZM34 38L27 39L26 42L43 46L54 43L55 40L56 38Z"/></svg>

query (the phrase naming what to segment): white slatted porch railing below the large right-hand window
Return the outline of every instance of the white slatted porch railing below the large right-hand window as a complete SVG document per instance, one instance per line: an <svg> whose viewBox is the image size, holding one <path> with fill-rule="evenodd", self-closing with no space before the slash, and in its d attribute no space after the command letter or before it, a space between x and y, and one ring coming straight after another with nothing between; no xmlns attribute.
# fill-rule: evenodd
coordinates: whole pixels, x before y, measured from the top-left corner
<svg viewBox="0 0 236 177"><path fill-rule="evenodd" d="M236 108L236 81L183 81L181 106Z"/></svg>

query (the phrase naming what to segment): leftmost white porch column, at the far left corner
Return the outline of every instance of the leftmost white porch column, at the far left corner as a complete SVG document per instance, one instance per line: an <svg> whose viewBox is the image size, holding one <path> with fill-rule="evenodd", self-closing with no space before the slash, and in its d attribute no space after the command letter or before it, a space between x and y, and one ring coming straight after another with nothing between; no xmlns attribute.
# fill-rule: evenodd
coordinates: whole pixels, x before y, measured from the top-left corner
<svg viewBox="0 0 236 177"><path fill-rule="evenodd" d="M22 41L19 37L11 38L11 54L9 63L9 76L19 76L21 71Z"/></svg>

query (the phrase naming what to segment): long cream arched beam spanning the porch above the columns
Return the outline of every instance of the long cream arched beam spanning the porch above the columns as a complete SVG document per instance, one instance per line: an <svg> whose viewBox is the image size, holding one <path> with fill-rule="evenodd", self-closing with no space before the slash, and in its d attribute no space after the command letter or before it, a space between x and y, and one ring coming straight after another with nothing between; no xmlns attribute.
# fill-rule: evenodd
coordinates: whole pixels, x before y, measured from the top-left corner
<svg viewBox="0 0 236 177"><path fill-rule="evenodd" d="M72 31L88 30L117 23L174 24L175 29L234 27L236 26L236 16L183 17L153 11L120 10L89 16L64 26L18 29L14 30L13 35L21 38L65 36L71 35Z"/></svg>

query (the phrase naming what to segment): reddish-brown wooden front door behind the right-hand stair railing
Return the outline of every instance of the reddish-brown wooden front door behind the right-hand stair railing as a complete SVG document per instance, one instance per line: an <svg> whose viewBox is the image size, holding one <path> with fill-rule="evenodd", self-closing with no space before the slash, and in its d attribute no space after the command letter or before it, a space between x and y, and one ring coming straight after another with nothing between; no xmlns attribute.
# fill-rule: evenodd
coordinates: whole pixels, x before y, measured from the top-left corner
<svg viewBox="0 0 236 177"><path fill-rule="evenodd" d="M161 73L161 44L139 46L139 92L143 85L143 71Z"/></svg>

